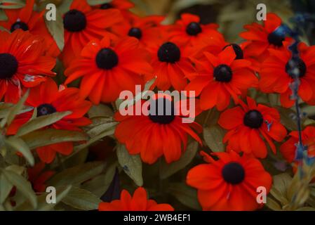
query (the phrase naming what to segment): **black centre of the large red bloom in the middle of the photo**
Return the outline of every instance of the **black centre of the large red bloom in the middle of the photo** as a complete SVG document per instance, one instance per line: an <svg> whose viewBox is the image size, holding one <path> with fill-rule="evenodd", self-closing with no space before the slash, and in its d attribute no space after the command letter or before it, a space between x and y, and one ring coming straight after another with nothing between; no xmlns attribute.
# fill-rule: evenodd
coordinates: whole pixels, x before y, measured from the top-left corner
<svg viewBox="0 0 315 225"><path fill-rule="evenodd" d="M158 98L155 102L155 115L154 108L149 109L149 119L159 124L169 124L175 119L174 103L166 98Z"/></svg>

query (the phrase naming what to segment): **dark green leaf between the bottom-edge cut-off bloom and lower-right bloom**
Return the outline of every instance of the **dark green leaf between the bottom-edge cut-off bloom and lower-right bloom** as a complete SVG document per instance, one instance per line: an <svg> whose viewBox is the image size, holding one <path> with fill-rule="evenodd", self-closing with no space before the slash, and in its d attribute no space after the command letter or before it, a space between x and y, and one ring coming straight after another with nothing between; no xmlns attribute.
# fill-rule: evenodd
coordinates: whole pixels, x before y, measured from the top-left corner
<svg viewBox="0 0 315 225"><path fill-rule="evenodd" d="M194 188L182 183L171 183L169 184L168 193L173 195L183 205L193 210L201 210L197 198L197 191Z"/></svg>

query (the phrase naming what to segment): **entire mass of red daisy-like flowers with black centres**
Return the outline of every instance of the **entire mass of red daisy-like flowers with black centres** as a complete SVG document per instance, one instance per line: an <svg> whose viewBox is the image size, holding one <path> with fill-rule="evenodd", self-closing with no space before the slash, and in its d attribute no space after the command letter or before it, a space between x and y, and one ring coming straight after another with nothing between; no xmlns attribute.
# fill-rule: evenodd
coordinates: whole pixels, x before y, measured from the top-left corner
<svg viewBox="0 0 315 225"><path fill-rule="evenodd" d="M286 128L279 112L257 104L248 97L249 89L281 96L281 105L291 107L288 70L291 53L290 37L275 30L281 19L267 14L262 25L246 25L240 34L241 44L228 43L217 31L218 25L203 25L196 15L182 14L173 25L162 25L162 16L139 17L129 11L133 4L113 0L90 6L86 0L74 0L62 15L65 47L60 51L46 28L43 13L34 11L34 0L27 0L21 9L6 9L7 21L0 25L0 98L16 103L30 89L26 105L37 110L37 116L71 111L70 115L49 128L81 131L91 123L85 117L91 105L112 103L123 90L135 91L135 85L155 79L152 89L195 91L196 115L211 108L222 111L218 124L227 131L224 143L227 152L215 155L202 153L208 164L197 165L187 174L187 184L198 189L203 210L255 210L256 189L264 186L269 192L272 177L256 158L266 158L268 146L276 153L274 141L286 138ZM51 22L53 23L53 22ZM315 47L299 45L299 95L308 104L315 104ZM57 58L65 66L65 84L58 86L51 78ZM315 71L315 70L314 70ZM79 88L67 87L80 80ZM143 162L152 164L161 157L171 163L179 160L187 148L188 137L202 145L200 124L182 122L180 102L164 96L172 105L171 115L128 115L116 113L119 122L115 137L126 144L130 154L140 154ZM86 100L87 99L87 100ZM156 101L158 99L156 98ZM233 107L229 107L234 102ZM33 110L22 113L8 127L15 134ZM303 141L315 141L314 127L303 131ZM266 143L268 145L266 145ZM281 146L288 162L295 158L297 132ZM42 162L51 163L56 153L69 155L73 143L57 143L37 148ZM314 156L314 148L309 155ZM213 158L218 158L214 160ZM36 189L43 189L43 169L37 165L32 174L40 180ZM101 203L100 210L173 210L170 205L157 205L147 200L145 189L133 197L127 191L121 200Z"/></svg>

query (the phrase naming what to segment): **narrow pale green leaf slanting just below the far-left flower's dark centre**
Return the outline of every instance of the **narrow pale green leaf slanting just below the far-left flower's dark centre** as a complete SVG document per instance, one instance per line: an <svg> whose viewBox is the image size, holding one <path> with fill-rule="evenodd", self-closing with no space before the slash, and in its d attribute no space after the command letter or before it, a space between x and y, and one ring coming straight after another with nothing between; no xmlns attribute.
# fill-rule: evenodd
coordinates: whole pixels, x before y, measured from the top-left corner
<svg viewBox="0 0 315 225"><path fill-rule="evenodd" d="M51 125L61 120L63 117L70 115L71 113L72 112L70 111L66 111L66 112L58 112L58 113L52 113L51 115L43 115L41 117L36 117L33 120L30 120L29 122L27 122L26 124L23 124L22 127L18 129L18 133L16 134L16 136L23 136L32 131L36 131L37 129L41 129L43 127Z"/></svg>

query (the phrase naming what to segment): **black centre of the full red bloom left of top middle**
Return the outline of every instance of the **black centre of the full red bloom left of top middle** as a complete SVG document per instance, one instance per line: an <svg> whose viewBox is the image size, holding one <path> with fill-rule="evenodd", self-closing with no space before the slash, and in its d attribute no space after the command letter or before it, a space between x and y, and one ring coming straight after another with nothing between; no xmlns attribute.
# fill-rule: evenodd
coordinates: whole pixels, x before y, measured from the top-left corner
<svg viewBox="0 0 315 225"><path fill-rule="evenodd" d="M95 61L96 65L98 65L98 68L110 70L118 64L119 59L116 52L114 52L112 49L105 48L98 52Z"/></svg>

